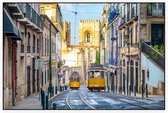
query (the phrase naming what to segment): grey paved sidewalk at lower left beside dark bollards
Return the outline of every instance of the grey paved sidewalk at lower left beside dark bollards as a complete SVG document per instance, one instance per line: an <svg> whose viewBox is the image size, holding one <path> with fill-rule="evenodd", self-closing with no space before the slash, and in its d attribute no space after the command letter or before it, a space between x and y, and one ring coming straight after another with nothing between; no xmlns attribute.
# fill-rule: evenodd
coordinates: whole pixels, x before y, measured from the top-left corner
<svg viewBox="0 0 168 113"><path fill-rule="evenodd" d="M15 106L9 108L13 109L42 109L41 101L39 100L39 94L32 95L28 98L22 99L21 101L16 102Z"/></svg>

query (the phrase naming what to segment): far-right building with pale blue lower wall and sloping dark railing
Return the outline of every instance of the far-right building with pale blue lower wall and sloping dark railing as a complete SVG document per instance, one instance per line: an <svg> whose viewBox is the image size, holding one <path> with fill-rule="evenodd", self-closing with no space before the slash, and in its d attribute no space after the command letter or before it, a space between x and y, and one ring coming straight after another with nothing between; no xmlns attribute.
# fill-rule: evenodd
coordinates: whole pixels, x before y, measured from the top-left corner
<svg viewBox="0 0 168 113"><path fill-rule="evenodd" d="M164 95L165 4L140 4L140 12L142 93Z"/></svg>

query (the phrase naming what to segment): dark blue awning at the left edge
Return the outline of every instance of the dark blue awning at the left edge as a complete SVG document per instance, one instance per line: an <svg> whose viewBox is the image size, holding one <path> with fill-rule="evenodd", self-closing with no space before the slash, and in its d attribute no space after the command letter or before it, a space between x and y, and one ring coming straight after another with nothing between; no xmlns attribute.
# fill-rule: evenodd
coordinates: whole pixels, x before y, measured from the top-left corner
<svg viewBox="0 0 168 113"><path fill-rule="evenodd" d="M16 28L5 9L3 9L3 33L12 40L22 40L22 33Z"/></svg>

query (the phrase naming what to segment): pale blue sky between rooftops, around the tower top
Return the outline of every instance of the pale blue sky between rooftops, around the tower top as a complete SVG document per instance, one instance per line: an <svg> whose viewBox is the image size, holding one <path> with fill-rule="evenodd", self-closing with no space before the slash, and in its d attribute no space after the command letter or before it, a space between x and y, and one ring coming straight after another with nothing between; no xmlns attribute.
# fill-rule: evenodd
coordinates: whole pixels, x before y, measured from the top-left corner
<svg viewBox="0 0 168 113"><path fill-rule="evenodd" d="M80 20L91 20L100 19L102 20L103 3L64 3L59 4L61 6L61 12L63 15L63 20L71 22L71 44L79 44L79 21ZM75 33L75 13L77 8L76 16L76 33ZM76 34L76 36L75 36ZM75 40L74 40L74 37Z"/></svg>

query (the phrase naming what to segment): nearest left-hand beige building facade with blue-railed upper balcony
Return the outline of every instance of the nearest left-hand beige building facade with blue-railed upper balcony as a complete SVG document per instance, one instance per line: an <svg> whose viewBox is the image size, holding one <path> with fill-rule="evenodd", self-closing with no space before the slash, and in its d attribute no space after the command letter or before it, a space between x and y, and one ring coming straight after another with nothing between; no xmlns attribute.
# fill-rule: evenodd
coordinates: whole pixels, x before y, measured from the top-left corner
<svg viewBox="0 0 168 113"><path fill-rule="evenodd" d="M37 5L34 4L34 6ZM35 60L40 57L43 22L39 13L28 3L7 3L4 4L4 8L12 15L13 19L10 20L13 20L13 25L16 25L16 28L19 29L18 33L21 32L22 34L22 41L15 41L15 48L12 49L13 54L16 55L12 61L15 62L12 64L15 67L15 71L12 71L15 77L11 79L14 81L15 90L13 91L15 95L7 100L8 103L12 101L12 104L5 106L8 108L15 105L16 101L38 93L40 90L39 70L35 70ZM8 93L5 95L12 94Z"/></svg>

